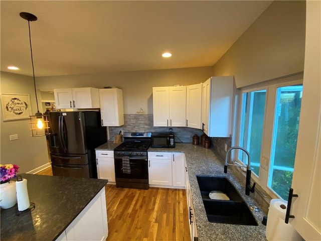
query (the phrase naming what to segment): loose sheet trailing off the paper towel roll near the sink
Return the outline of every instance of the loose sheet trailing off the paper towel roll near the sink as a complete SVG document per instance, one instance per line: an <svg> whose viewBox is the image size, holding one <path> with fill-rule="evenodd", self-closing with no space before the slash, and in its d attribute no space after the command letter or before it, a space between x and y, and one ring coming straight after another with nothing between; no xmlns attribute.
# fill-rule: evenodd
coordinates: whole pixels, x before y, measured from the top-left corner
<svg viewBox="0 0 321 241"><path fill-rule="evenodd" d="M300 234L292 227L290 223L285 223L284 219L278 219L275 232L273 235L275 241L299 241L303 240Z"/></svg>

